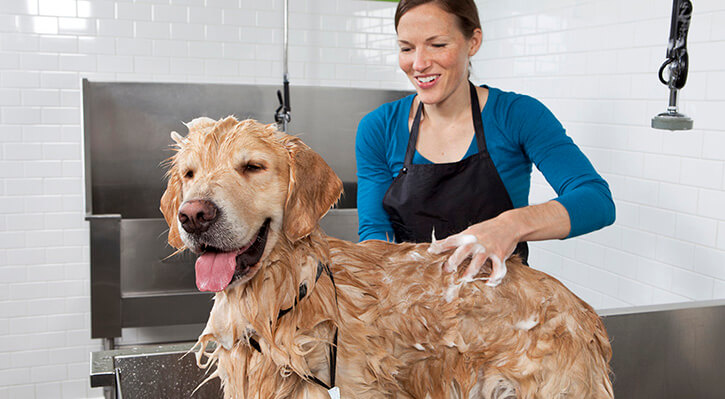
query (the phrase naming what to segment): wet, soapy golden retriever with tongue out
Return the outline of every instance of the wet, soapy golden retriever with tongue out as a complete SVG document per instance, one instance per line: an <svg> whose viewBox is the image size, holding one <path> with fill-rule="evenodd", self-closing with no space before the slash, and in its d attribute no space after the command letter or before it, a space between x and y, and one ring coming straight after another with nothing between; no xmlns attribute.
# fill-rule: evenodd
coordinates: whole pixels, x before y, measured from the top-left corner
<svg viewBox="0 0 725 399"><path fill-rule="evenodd" d="M161 210L216 292L197 360L225 398L328 398L333 379L342 398L613 397L601 320L556 279L514 258L491 287L443 272L430 244L328 237L342 184L302 141L233 117L187 126Z"/></svg>

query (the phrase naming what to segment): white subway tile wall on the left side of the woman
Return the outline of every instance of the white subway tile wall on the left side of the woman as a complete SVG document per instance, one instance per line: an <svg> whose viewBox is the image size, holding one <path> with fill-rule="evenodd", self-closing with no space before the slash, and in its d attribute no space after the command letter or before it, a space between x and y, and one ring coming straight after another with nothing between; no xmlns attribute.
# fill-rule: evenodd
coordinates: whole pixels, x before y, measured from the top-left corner
<svg viewBox="0 0 725 399"><path fill-rule="evenodd" d="M290 80L406 88L395 4L290 2ZM280 84L282 1L0 2L0 398L90 389L80 80Z"/></svg>

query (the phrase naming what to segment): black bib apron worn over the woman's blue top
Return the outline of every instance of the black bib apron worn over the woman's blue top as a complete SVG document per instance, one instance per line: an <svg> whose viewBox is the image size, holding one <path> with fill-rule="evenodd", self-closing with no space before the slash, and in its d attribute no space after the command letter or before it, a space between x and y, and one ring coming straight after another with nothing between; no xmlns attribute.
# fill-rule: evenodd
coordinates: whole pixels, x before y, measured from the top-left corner
<svg viewBox="0 0 725 399"><path fill-rule="evenodd" d="M478 153L459 162L413 164L423 110L423 103L418 105L403 168L383 197L397 242L430 242L433 229L436 239L442 239L513 209L486 149L476 87L469 85ZM514 253L525 262L528 246L520 242Z"/></svg>

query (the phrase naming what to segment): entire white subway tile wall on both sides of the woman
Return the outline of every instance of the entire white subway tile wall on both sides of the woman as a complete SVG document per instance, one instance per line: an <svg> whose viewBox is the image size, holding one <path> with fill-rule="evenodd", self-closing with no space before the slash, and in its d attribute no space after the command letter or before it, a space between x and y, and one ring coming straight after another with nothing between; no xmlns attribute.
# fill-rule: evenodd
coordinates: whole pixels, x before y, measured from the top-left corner
<svg viewBox="0 0 725 399"><path fill-rule="evenodd" d="M597 308L725 297L725 3L698 0L681 105L650 129L669 0L478 1L472 78L543 101L609 181L617 222L532 244L535 267ZM395 4L290 1L292 84L410 89ZM279 84L282 0L0 2L0 399L88 386L80 80ZM553 197L538 173L531 202Z"/></svg>

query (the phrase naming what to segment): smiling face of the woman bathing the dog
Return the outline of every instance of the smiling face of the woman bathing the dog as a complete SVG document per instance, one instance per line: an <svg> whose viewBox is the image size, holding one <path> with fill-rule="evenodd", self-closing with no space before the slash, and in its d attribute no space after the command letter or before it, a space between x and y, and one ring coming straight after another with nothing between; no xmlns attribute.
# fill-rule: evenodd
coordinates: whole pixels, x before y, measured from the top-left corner
<svg viewBox="0 0 725 399"><path fill-rule="evenodd" d="M398 63L420 101L438 104L468 81L468 59L481 45L481 30L467 39L456 16L433 3L406 12L398 22Z"/></svg>

